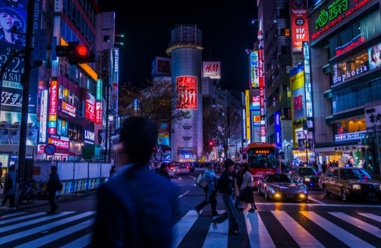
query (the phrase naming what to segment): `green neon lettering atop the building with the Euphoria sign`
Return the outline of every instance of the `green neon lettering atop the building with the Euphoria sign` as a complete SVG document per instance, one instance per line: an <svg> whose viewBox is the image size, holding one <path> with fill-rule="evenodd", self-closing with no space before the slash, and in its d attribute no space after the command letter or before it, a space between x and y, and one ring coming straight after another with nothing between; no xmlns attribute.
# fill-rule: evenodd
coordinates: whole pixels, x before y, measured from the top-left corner
<svg viewBox="0 0 381 248"><path fill-rule="evenodd" d="M315 20L315 30L318 31L322 26L338 17L342 12L348 9L348 0L334 0L320 11L319 17Z"/></svg>

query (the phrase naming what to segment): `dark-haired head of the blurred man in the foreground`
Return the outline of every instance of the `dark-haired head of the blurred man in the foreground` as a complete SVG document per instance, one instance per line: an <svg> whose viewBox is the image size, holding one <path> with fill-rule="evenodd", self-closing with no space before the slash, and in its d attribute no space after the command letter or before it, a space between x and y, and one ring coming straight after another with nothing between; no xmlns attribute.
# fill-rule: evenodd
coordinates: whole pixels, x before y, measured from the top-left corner
<svg viewBox="0 0 381 248"><path fill-rule="evenodd" d="M120 141L121 162L148 163L156 145L156 125L142 117L130 117L123 122Z"/></svg>

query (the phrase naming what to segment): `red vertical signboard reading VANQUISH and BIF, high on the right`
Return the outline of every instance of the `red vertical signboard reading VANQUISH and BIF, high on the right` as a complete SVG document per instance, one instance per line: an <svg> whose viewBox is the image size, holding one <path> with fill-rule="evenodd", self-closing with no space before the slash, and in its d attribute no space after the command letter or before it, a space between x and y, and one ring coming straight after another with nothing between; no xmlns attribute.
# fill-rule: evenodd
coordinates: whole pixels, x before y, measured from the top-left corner
<svg viewBox="0 0 381 248"><path fill-rule="evenodd" d="M302 52L302 42L309 41L307 0L291 0L292 51Z"/></svg>

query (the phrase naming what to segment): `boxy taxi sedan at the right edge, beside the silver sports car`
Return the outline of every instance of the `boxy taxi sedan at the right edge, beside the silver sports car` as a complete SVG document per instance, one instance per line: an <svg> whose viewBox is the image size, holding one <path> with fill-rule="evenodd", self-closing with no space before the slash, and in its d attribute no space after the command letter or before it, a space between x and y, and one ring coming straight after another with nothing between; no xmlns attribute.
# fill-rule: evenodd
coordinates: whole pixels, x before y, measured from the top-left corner
<svg viewBox="0 0 381 248"><path fill-rule="evenodd" d="M377 198L381 202L381 184L361 168L334 167L329 168L319 178L319 186L324 195L336 194L343 201L350 197Z"/></svg>

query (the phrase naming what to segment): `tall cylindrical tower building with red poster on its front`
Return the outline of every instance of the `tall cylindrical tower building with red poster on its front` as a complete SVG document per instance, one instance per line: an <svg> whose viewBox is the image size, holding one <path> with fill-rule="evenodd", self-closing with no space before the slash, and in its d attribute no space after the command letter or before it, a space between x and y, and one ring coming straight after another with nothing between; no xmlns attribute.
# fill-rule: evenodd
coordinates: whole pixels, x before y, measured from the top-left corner
<svg viewBox="0 0 381 248"><path fill-rule="evenodd" d="M176 109L190 111L190 118L172 123L172 161L196 161L202 155L201 38L196 25L171 29L167 54L172 57Z"/></svg>

